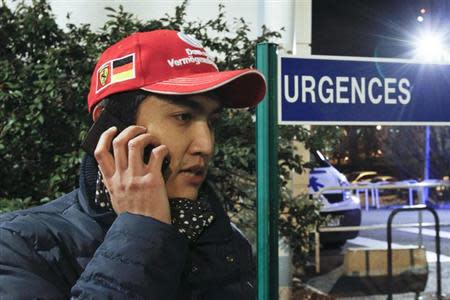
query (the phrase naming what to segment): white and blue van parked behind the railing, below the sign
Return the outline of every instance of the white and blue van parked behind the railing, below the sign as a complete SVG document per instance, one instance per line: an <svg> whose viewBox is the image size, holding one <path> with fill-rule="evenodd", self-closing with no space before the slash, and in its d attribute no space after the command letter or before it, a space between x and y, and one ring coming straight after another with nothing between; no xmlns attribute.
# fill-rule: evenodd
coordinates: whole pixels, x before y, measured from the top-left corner
<svg viewBox="0 0 450 300"><path fill-rule="evenodd" d="M346 186L349 182L344 174L333 167L320 151L311 153L311 162L314 168L309 173L309 193L314 196L321 188ZM330 190L325 191L319 198L322 203L320 213L323 216L331 215L328 226L360 226L361 206L359 196L351 191ZM324 247L335 248L345 244L348 239L358 236L358 231L327 232L320 235Z"/></svg>

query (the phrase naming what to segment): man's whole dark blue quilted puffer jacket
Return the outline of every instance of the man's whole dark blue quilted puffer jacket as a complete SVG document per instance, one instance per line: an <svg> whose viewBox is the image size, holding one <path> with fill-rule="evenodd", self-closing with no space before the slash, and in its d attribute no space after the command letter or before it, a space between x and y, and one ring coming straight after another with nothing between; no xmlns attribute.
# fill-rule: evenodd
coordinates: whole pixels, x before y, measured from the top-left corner
<svg viewBox="0 0 450 300"><path fill-rule="evenodd" d="M190 247L155 219L96 212L96 174L86 156L79 189L0 216L0 299L255 299L250 245L219 202Z"/></svg>

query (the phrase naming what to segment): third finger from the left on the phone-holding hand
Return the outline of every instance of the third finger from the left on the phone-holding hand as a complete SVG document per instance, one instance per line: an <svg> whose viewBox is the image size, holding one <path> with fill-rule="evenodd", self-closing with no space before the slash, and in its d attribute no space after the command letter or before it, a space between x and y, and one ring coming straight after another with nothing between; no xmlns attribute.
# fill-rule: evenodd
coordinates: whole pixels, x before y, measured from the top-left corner
<svg viewBox="0 0 450 300"><path fill-rule="evenodd" d="M128 168L132 172L140 172L146 167L143 161L144 149L146 147L154 148L160 145L157 137L145 133L138 135L128 142Z"/></svg>

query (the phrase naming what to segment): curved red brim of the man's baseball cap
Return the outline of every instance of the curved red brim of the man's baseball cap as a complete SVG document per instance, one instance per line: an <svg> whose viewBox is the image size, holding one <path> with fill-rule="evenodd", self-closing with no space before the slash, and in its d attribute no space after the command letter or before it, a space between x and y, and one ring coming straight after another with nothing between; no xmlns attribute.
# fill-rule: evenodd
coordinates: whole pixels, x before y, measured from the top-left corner
<svg viewBox="0 0 450 300"><path fill-rule="evenodd" d="M199 73L172 78L141 87L142 90L167 94L189 95L217 90L227 107L256 106L266 94L264 76L253 69Z"/></svg>

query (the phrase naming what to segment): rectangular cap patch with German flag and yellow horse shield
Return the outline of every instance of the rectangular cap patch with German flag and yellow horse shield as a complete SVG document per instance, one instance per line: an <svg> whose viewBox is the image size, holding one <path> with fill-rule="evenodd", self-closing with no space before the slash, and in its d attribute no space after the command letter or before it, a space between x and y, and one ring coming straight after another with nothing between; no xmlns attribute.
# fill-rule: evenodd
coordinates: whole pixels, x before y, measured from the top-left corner
<svg viewBox="0 0 450 300"><path fill-rule="evenodd" d="M97 71L96 93L105 87L136 77L134 53L110 60L104 63Z"/></svg>

